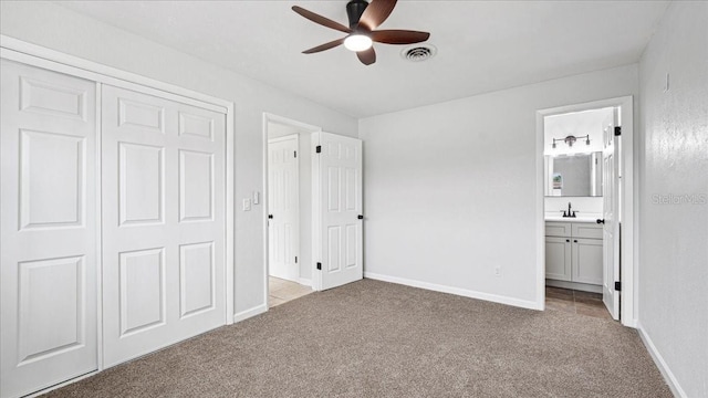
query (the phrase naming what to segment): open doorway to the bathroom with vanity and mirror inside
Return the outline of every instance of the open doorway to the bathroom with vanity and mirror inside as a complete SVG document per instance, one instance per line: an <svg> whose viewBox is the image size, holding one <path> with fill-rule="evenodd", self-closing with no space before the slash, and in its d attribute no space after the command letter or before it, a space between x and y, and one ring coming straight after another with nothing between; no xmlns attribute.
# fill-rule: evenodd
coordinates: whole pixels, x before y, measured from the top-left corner
<svg viewBox="0 0 708 398"><path fill-rule="evenodd" d="M545 308L633 326L631 119L631 97L539 112Z"/></svg>

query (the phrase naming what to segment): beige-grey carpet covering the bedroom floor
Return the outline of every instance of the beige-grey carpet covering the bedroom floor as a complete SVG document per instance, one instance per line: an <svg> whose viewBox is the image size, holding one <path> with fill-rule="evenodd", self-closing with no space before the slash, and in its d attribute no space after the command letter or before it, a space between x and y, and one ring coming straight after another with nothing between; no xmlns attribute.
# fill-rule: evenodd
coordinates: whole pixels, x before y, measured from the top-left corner
<svg viewBox="0 0 708 398"><path fill-rule="evenodd" d="M615 322L364 280L54 397L671 397Z"/></svg>

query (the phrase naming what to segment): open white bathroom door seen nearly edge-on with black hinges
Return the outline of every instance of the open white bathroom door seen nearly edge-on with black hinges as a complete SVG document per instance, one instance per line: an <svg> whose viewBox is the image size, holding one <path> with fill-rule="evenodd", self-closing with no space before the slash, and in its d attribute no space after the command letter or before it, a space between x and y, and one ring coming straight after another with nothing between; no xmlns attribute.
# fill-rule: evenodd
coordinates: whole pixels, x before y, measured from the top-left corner
<svg viewBox="0 0 708 398"><path fill-rule="evenodd" d="M616 111L615 111L616 112ZM620 174L618 137L615 137L615 117L604 129L603 150L603 287L602 298L614 320L620 320L620 292L615 282L620 281Z"/></svg>

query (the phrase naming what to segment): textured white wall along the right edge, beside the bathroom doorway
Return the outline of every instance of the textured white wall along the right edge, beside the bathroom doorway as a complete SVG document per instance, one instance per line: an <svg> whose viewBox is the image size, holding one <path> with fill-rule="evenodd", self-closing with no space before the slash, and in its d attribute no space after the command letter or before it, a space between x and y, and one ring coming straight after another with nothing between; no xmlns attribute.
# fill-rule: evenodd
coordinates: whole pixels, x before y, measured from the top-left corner
<svg viewBox="0 0 708 398"><path fill-rule="evenodd" d="M639 87L639 324L677 391L708 397L708 2L669 6Z"/></svg>

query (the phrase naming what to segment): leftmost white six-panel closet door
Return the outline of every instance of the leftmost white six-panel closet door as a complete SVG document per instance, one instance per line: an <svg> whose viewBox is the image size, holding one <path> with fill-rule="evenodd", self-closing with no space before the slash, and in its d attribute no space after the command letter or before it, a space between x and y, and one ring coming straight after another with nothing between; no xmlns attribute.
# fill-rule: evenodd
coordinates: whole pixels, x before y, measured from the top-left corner
<svg viewBox="0 0 708 398"><path fill-rule="evenodd" d="M1 61L0 396L97 368L95 84Z"/></svg>

